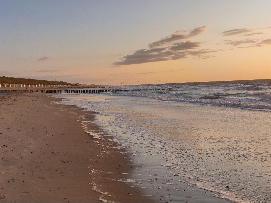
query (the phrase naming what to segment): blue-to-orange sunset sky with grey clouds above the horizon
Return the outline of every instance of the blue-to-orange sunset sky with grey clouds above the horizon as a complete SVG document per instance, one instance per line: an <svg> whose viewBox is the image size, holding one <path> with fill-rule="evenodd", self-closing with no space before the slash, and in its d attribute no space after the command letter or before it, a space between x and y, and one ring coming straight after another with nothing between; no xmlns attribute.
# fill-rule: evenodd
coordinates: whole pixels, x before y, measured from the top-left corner
<svg viewBox="0 0 271 203"><path fill-rule="evenodd" d="M0 75L108 85L269 79L270 8L0 0Z"/></svg>

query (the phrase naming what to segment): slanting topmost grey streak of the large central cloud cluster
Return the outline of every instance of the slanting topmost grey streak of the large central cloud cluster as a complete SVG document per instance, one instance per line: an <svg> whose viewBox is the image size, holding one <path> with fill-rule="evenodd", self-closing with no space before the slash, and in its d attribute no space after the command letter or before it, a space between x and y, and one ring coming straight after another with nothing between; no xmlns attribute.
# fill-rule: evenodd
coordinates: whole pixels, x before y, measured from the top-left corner
<svg viewBox="0 0 271 203"><path fill-rule="evenodd" d="M204 32L205 28L207 26L202 26L202 27L198 27L195 28L194 30L190 31L189 34L185 35L185 34L180 34L185 32L184 30L178 30L174 33L172 33L169 37L165 37L165 38L161 38L160 40L150 43L149 44L149 48L155 48L155 47L159 47L162 46L164 44L168 44L177 40L182 40L182 39L187 39L187 38L191 38L194 37L196 35L201 34L202 32Z"/></svg>

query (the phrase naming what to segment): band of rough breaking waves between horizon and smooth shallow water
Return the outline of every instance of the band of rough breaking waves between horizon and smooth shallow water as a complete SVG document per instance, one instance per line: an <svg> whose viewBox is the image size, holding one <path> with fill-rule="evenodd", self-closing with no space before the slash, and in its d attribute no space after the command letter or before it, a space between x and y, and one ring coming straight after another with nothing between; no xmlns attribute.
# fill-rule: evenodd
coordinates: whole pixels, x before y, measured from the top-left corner
<svg viewBox="0 0 271 203"><path fill-rule="evenodd" d="M218 81L126 86L128 89L161 88L166 90L107 93L145 97L164 102L185 102L245 109L271 110L271 80ZM154 88L155 87L155 88ZM170 87L170 89L169 89Z"/></svg>

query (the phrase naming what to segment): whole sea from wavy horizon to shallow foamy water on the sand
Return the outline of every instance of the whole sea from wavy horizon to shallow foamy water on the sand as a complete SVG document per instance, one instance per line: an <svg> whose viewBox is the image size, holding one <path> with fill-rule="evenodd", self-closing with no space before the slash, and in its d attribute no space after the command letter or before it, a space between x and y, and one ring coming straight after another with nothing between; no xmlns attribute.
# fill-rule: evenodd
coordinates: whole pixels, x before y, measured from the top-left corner
<svg viewBox="0 0 271 203"><path fill-rule="evenodd" d="M145 90L54 96L95 114L81 123L97 142L126 149L137 167L122 181L157 202L271 202L271 80L111 89Z"/></svg>

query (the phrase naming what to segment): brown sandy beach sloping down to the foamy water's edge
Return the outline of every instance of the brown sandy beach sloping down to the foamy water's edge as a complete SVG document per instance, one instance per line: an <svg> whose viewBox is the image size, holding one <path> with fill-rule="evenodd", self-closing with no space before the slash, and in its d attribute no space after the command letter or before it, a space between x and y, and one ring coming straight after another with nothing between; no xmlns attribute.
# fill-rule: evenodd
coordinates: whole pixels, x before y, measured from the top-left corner
<svg viewBox="0 0 271 203"><path fill-rule="evenodd" d="M112 180L129 178L132 165L123 149L106 151L84 131L79 120L93 115L58 100L0 93L0 202L150 202Z"/></svg>

